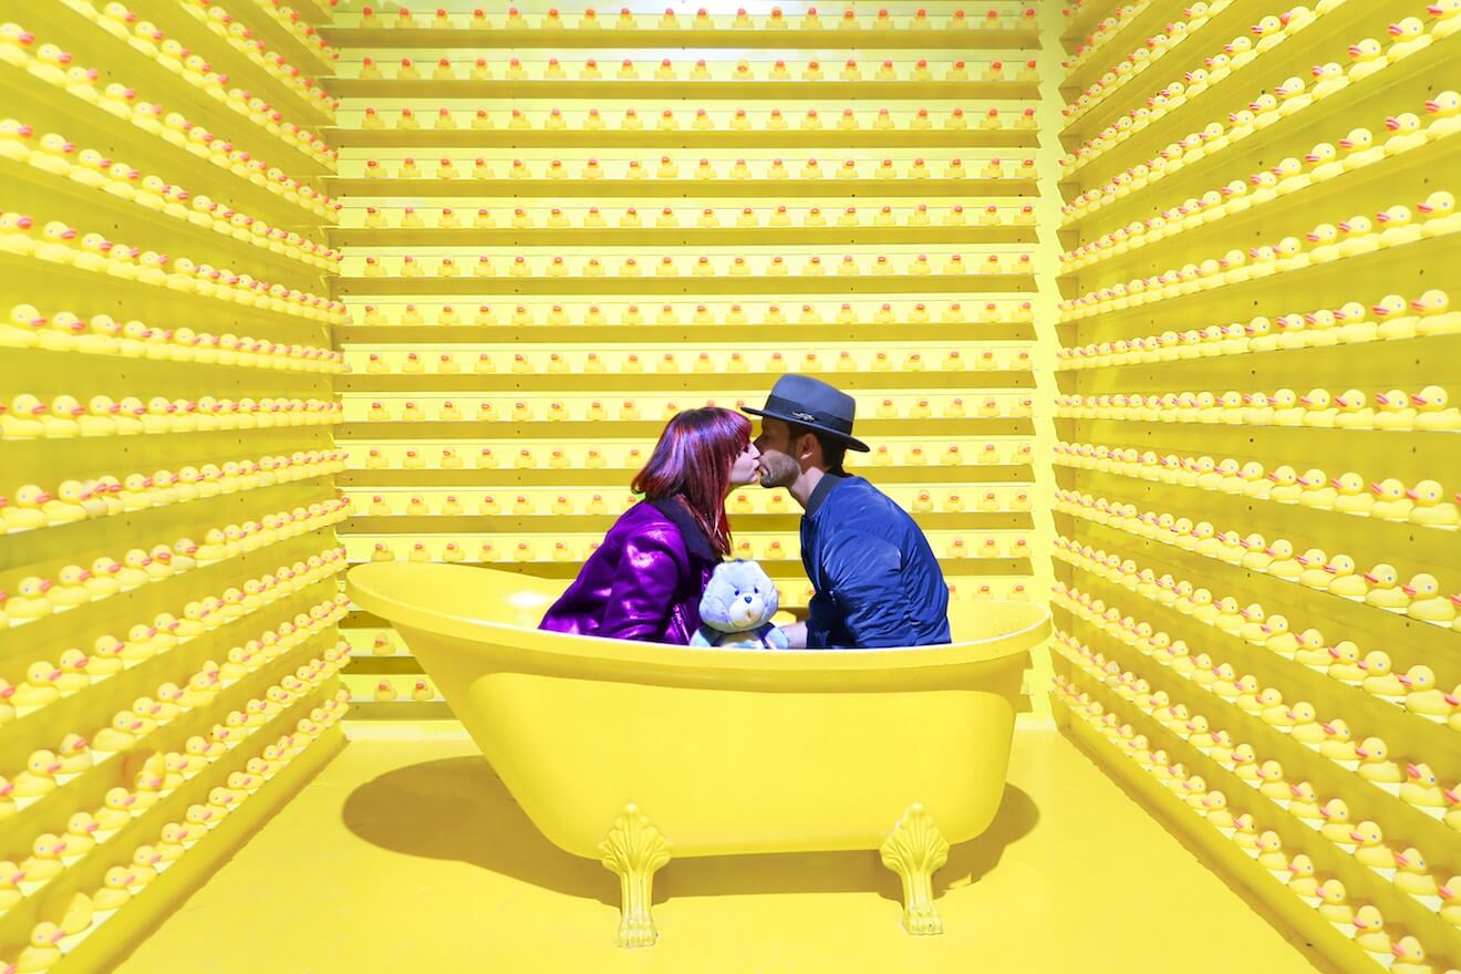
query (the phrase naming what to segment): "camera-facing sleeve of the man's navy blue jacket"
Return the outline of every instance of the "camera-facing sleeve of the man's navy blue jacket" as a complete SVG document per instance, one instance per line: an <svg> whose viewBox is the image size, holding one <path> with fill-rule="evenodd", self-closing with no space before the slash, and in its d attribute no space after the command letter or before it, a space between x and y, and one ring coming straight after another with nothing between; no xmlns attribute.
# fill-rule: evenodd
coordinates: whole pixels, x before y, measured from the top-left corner
<svg viewBox="0 0 1461 974"><path fill-rule="evenodd" d="M903 553L880 537L846 530L827 539L823 572L850 648L907 644L910 626L903 618L901 571ZM811 628L808 624L808 643Z"/></svg>

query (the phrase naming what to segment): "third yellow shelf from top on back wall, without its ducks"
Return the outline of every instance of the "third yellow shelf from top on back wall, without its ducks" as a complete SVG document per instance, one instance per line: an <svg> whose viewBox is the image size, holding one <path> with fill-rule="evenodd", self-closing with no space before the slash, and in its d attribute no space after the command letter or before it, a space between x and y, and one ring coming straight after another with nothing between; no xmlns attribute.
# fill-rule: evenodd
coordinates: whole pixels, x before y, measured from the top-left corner
<svg viewBox="0 0 1461 974"><path fill-rule="evenodd" d="M641 129L327 129L336 149L1037 149L1034 130L980 129L785 129L660 131Z"/></svg>

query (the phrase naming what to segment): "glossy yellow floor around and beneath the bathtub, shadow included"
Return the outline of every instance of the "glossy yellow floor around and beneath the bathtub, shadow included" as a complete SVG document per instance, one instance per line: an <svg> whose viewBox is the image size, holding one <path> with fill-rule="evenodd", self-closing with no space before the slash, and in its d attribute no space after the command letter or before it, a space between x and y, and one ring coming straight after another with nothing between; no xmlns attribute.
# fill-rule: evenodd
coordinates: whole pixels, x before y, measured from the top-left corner
<svg viewBox="0 0 1461 974"><path fill-rule="evenodd" d="M1315 970L1053 730L1017 735L1010 781L935 876L941 937L901 932L875 853L726 857L665 867L659 945L619 951L618 882L539 837L470 742L355 740L117 970Z"/></svg>

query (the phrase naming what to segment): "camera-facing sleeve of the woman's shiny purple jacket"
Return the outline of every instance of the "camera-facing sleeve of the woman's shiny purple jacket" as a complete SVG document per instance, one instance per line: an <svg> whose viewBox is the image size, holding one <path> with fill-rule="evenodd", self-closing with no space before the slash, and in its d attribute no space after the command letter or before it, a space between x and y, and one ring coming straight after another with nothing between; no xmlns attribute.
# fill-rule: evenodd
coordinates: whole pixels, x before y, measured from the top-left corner
<svg viewBox="0 0 1461 974"><path fill-rule="evenodd" d="M674 527L650 527L624 540L599 635L657 641L690 572L690 559Z"/></svg>

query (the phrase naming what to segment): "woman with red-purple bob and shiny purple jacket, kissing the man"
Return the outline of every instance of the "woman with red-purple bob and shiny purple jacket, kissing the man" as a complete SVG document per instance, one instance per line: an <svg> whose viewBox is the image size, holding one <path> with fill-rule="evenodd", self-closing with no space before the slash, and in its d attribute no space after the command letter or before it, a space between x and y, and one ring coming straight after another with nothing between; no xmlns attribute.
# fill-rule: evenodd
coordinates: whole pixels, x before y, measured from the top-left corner
<svg viewBox="0 0 1461 974"><path fill-rule="evenodd" d="M634 478L644 499L619 517L539 628L687 645L700 596L730 553L726 496L754 483L751 422L729 409L687 409L665 426Z"/></svg>

